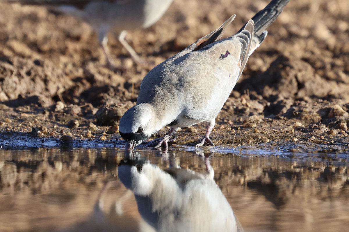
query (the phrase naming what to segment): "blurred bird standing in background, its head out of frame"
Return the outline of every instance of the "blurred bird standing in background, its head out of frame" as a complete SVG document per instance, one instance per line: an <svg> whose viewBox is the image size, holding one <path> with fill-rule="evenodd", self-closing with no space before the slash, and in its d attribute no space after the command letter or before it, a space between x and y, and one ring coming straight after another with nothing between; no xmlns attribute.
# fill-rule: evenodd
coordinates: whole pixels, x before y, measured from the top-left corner
<svg viewBox="0 0 349 232"><path fill-rule="evenodd" d="M107 33L113 30L132 59L144 61L125 40L127 30L147 28L156 23L173 0L7 0L22 5L45 5L55 11L82 19L92 26L103 48L106 64L110 69L124 69L115 65L107 46Z"/></svg>

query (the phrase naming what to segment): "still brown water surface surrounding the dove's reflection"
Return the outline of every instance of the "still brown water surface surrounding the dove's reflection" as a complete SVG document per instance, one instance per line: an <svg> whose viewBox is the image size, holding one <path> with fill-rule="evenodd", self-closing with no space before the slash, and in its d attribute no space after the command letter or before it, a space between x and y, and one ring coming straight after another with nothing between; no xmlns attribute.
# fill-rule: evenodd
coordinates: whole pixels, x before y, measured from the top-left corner
<svg viewBox="0 0 349 232"><path fill-rule="evenodd" d="M347 154L118 146L0 149L0 231L152 231L118 178L125 155L201 174L210 156L245 231L348 231Z"/></svg>

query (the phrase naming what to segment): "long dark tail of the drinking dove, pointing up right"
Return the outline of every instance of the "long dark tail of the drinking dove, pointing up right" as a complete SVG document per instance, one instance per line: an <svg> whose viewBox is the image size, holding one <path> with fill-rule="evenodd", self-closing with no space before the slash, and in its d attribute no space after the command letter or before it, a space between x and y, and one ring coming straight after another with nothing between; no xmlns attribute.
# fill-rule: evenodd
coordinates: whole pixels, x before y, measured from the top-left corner
<svg viewBox="0 0 349 232"><path fill-rule="evenodd" d="M253 18L254 22L254 46L252 45L251 53L263 42L267 37L266 29L281 14L285 6L290 0L272 0L264 9L259 11ZM245 24L246 25L246 24ZM239 32L244 30L245 25Z"/></svg>

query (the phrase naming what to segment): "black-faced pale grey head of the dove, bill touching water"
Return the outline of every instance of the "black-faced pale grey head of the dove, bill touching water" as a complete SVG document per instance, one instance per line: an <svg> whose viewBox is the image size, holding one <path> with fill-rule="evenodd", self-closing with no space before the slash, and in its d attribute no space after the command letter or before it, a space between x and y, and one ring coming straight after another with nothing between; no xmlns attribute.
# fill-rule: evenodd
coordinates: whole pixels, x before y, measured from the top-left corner
<svg viewBox="0 0 349 232"><path fill-rule="evenodd" d="M120 119L119 132L127 142L127 150L134 149L154 133L154 120L154 108L148 103L135 105L126 111Z"/></svg>

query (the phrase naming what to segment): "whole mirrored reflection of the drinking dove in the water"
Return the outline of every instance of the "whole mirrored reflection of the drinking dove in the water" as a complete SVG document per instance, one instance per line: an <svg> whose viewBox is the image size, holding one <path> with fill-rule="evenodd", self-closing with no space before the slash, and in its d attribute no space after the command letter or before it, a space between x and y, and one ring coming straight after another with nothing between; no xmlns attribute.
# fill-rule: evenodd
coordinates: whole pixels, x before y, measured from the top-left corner
<svg viewBox="0 0 349 232"><path fill-rule="evenodd" d="M243 231L213 179L208 157L205 164L207 173L201 174L127 158L119 163L118 177L133 191L141 217L155 231Z"/></svg>

